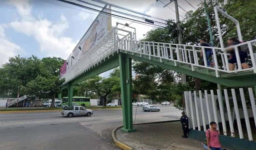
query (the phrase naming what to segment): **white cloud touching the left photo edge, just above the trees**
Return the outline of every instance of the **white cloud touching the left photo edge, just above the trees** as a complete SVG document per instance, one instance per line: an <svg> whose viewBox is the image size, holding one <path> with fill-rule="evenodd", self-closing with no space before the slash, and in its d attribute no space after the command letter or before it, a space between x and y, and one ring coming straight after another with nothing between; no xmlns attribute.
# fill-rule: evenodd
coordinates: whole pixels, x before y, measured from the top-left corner
<svg viewBox="0 0 256 150"><path fill-rule="evenodd" d="M0 25L0 67L7 62L9 57L17 55L21 48L6 39L4 28Z"/></svg>

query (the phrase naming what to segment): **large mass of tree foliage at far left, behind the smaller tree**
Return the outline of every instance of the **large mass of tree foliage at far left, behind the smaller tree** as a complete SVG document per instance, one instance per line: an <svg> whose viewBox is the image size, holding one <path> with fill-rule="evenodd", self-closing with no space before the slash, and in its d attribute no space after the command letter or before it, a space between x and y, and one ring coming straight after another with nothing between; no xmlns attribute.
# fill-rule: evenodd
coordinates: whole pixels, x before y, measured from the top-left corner
<svg viewBox="0 0 256 150"><path fill-rule="evenodd" d="M56 57L43 59L33 55L28 58L19 55L10 57L9 61L0 68L0 95L17 97L18 86L25 87L28 82L33 80L36 82L41 77L47 79L53 78L52 76L58 77L63 62L63 59ZM32 92L27 91L27 93Z"/></svg>

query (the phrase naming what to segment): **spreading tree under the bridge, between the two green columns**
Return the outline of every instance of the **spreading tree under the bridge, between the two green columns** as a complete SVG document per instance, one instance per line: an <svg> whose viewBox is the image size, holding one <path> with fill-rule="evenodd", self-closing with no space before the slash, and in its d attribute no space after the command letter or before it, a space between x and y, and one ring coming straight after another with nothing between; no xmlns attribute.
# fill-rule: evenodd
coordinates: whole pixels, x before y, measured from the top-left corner
<svg viewBox="0 0 256 150"><path fill-rule="evenodd" d="M85 80L85 87L87 87L85 90L97 93L103 98L103 105L106 106L108 95L113 93L112 88L117 86L118 83L120 84L120 78L118 77L103 78L95 76Z"/></svg>

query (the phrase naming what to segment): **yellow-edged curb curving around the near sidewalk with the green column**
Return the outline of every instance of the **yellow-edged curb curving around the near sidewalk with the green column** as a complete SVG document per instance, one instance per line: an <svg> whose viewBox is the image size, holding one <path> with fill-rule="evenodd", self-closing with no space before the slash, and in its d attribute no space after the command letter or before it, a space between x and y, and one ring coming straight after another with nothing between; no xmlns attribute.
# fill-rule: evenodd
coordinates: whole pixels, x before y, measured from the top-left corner
<svg viewBox="0 0 256 150"><path fill-rule="evenodd" d="M138 123L138 124L133 124L133 125L139 125L139 124L151 124L151 123L166 123L166 122L177 122L177 121L180 121L180 120L170 120L170 121L159 121L159 122L147 122L147 123ZM117 128L115 128L114 130L112 130L112 138L113 138L113 141L114 141L114 144L119 147L120 149L122 150L133 150L133 148L131 148L130 146L118 141L116 139L116 136L115 136L115 131L119 128L123 127L122 126L119 126Z"/></svg>

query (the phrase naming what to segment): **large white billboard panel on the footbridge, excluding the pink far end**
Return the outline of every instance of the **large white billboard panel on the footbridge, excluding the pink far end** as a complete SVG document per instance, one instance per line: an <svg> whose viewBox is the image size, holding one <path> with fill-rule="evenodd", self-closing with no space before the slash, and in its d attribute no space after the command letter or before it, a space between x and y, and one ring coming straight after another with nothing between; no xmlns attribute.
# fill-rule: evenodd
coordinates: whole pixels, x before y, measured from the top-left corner
<svg viewBox="0 0 256 150"><path fill-rule="evenodd" d="M105 5L102 12L111 13L111 7L107 8ZM91 26L85 32L82 39L76 45L72 51L72 67L76 67L76 64L80 59L86 59L86 51L93 48L101 38L111 30L111 16L104 13L99 13Z"/></svg>

